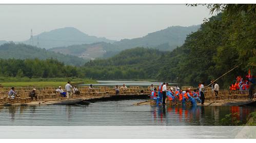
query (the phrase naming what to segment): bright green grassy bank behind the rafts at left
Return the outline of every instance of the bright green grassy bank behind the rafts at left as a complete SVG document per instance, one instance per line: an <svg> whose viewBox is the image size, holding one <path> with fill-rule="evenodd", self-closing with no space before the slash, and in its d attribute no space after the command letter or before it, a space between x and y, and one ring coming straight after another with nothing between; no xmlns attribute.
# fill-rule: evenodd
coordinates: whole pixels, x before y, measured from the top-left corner
<svg viewBox="0 0 256 143"><path fill-rule="evenodd" d="M0 84L4 87L25 87L25 86L37 86L37 87L46 87L46 86L65 86L67 81L71 81L72 84L94 84L97 83L95 80L91 79L80 79L80 78L38 78L38 79L29 79L29 78L12 78L12 77L1 77Z"/></svg>

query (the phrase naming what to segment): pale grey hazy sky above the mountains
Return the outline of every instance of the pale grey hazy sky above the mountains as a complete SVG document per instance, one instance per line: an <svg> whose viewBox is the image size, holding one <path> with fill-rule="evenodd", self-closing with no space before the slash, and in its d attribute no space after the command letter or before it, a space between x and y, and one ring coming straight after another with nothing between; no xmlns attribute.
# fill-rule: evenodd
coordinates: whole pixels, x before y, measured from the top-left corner
<svg viewBox="0 0 256 143"><path fill-rule="evenodd" d="M199 25L206 7L185 5L0 5L0 40L21 41L57 28L74 27L112 40L136 38L170 26Z"/></svg>

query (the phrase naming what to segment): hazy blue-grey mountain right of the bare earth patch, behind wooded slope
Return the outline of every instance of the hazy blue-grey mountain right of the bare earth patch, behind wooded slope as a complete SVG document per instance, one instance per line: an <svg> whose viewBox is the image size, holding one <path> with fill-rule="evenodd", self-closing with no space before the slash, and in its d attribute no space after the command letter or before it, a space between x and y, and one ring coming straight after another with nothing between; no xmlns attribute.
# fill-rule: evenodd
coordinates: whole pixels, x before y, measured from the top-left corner
<svg viewBox="0 0 256 143"><path fill-rule="evenodd" d="M176 46L181 46L188 34L198 31L200 25L181 27L172 26L164 30L149 33L141 38L123 39L114 42L113 44L119 45L122 49L131 49L132 47L155 47L161 51L171 51Z"/></svg>

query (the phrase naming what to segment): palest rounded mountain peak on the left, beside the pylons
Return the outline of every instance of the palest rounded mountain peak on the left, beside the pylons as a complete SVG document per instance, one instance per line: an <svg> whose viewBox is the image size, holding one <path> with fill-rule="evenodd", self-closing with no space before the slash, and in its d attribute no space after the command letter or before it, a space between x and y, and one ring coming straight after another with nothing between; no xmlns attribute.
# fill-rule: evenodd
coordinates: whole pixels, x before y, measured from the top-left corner
<svg viewBox="0 0 256 143"><path fill-rule="evenodd" d="M75 28L66 27L55 29L49 32L43 32L41 34L33 36L32 39L28 39L22 43L36 45L45 49L58 46L69 46L76 44L90 44L95 42L107 42L113 43L113 40L108 40L104 37L99 38L95 36L89 36Z"/></svg>

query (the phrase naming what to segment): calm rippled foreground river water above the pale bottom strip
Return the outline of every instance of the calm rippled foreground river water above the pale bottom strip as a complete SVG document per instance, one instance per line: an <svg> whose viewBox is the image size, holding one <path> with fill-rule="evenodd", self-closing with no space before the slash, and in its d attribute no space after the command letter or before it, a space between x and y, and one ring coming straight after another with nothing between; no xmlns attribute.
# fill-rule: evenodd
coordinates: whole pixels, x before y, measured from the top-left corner
<svg viewBox="0 0 256 143"><path fill-rule="evenodd" d="M216 126L226 114L246 123L254 107L136 106L145 100L83 105L0 106L1 126ZM237 114L235 114L237 113Z"/></svg>

